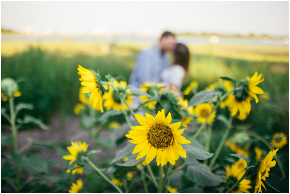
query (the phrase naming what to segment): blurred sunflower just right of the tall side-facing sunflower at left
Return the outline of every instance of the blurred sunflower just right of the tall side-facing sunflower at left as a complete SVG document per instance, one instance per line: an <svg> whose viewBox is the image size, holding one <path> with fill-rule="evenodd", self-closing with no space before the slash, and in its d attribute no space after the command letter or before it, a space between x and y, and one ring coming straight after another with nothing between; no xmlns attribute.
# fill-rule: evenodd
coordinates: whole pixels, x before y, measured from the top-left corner
<svg viewBox="0 0 290 194"><path fill-rule="evenodd" d="M112 84L111 81L109 81L109 83ZM119 91L123 91L127 87L127 82L126 81L118 82L117 80L114 80L113 85ZM105 88L107 89L108 86L105 85ZM112 86L109 86L109 88L110 88L109 92L104 94L104 100L105 100L104 107L106 107L106 110L113 109L113 110L123 111L123 107L122 107L122 103L121 103L121 99L119 95L117 94L117 92L114 90ZM133 102L131 101L131 98L133 98L134 95L128 95L128 93L130 93L129 89L126 90L124 97L128 104L133 104ZM126 104L125 104L125 108L126 110L129 110L129 107Z"/></svg>

